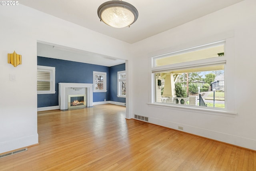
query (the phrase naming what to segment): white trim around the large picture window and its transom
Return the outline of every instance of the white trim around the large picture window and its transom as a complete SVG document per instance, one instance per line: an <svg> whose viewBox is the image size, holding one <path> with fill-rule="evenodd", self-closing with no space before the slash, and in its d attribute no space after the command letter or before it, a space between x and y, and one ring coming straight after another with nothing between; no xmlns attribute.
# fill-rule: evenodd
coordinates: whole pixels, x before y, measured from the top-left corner
<svg viewBox="0 0 256 171"><path fill-rule="evenodd" d="M186 110L190 112L196 112L200 111L201 113L205 114L215 114L215 115L224 115L224 116L231 116L236 113L235 109L235 82L234 82L234 37L226 38L225 40L216 41L216 44L225 42L225 48L224 48L224 54L225 56L222 56L221 58L208 58L203 60L196 60L191 62L183 62L179 64L171 64L166 66L155 66L155 60L154 58L160 58L161 56L167 56L170 54L174 54L176 52L186 52L186 50L191 48L185 48L185 50L178 50L175 52L166 53L163 55L156 55L149 58L151 61L150 64L150 97L148 101L148 105L152 105L154 107L167 107L172 109L178 109L178 110ZM212 44L212 43L210 43ZM201 46L195 46L200 47ZM185 68L194 68L194 67L200 67L200 66L206 66L206 65L214 65L214 64L224 64L224 75L225 75L225 109L221 108L214 108L211 109L209 107L197 107L197 106L186 106L186 105L178 105L178 104L163 104L155 102L155 78L154 73L160 72L160 71L170 71L170 70L176 70L176 69L185 69ZM227 65L228 64L228 65ZM228 89L227 89L228 87ZM231 115L230 115L231 114ZM232 117L232 116L231 116Z"/></svg>

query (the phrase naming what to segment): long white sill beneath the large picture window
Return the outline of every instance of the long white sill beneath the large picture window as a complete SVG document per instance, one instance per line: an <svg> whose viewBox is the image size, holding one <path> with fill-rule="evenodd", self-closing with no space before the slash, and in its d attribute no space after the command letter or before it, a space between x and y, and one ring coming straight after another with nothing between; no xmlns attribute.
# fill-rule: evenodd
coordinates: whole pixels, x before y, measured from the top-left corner
<svg viewBox="0 0 256 171"><path fill-rule="evenodd" d="M152 107L161 107L166 109L177 109L177 110L183 110L183 111L189 111L189 112L196 112L196 113L204 113L204 114L210 114L210 115L221 115L221 116L227 116L227 117L235 117L237 114L236 112L228 112L223 110L214 110L214 109L205 109L205 108L198 108L196 106L183 106L183 105L166 105L166 104L160 104L160 103L148 103L148 105Z"/></svg>

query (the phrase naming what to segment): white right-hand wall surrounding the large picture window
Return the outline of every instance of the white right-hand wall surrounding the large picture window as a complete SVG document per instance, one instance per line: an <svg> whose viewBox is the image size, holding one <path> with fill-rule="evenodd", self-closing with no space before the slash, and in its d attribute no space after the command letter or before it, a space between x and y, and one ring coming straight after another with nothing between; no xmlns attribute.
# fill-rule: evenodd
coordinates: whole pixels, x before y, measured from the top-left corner
<svg viewBox="0 0 256 171"><path fill-rule="evenodd" d="M154 124L256 150L255 73L256 1L244 0L192 22L132 44L132 96L134 114L149 117ZM179 108L157 107L150 102L149 57L203 43L234 37L234 97L237 115L206 114ZM142 84L144 83L144 84Z"/></svg>

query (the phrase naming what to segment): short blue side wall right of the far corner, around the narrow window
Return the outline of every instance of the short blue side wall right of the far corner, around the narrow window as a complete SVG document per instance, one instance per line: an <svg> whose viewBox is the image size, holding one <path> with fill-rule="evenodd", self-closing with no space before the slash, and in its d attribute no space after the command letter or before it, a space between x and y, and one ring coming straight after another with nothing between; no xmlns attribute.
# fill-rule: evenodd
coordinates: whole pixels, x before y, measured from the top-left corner
<svg viewBox="0 0 256 171"><path fill-rule="evenodd" d="M117 72L124 70L125 64L110 67L110 101L126 102L126 98L117 97Z"/></svg>

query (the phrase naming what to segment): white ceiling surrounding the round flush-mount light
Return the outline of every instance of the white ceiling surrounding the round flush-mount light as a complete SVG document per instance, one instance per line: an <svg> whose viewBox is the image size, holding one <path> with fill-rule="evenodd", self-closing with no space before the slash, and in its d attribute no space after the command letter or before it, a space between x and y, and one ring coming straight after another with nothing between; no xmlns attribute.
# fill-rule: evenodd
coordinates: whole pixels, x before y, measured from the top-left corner
<svg viewBox="0 0 256 171"><path fill-rule="evenodd" d="M100 22L97 9L106 1L22 0L19 3L132 44L242 0L125 0L139 13L130 28L112 28Z"/></svg>

